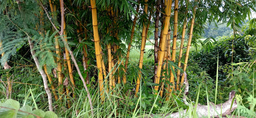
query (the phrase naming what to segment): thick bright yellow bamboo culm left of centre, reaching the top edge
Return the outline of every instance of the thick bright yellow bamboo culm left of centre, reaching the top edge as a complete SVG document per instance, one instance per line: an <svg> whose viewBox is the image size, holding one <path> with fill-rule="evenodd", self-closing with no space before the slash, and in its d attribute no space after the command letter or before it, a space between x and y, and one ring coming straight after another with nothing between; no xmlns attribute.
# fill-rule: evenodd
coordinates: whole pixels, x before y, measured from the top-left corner
<svg viewBox="0 0 256 118"><path fill-rule="evenodd" d="M100 96L101 100L104 100L103 95L103 75L102 75L102 61L100 56L100 38L98 33L98 22L97 22L97 8L96 8L96 1L91 1L91 8L92 8L92 27L93 27L93 37L94 37L94 44L95 44L95 55L96 55L96 61L97 61L97 68L99 70L98 74L98 81L99 81L99 88L100 88ZM104 63L103 63L104 64Z"/></svg>

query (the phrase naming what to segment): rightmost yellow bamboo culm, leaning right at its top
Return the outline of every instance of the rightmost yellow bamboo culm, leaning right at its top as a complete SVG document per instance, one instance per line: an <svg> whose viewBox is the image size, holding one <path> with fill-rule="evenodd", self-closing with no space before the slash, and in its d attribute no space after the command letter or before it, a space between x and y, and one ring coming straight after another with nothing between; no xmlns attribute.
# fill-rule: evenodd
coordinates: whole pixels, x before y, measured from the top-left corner
<svg viewBox="0 0 256 118"><path fill-rule="evenodd" d="M190 26L190 31L189 31L189 40L188 40L188 43L187 43L187 51L186 51L186 57L185 57L185 61L184 61L184 68L183 68L183 71L186 71L186 68L187 68L187 61L188 61L188 57L189 57L189 49L190 49L190 46L191 46L191 40L192 40L192 36L193 36L193 28L194 28L194 23L195 23L195 13L196 13L196 8L194 8L194 13L193 13L193 17L192 17L192 20L191 20L191 26ZM184 82L184 75L182 75L182 79L181 79L181 85L183 84Z"/></svg>

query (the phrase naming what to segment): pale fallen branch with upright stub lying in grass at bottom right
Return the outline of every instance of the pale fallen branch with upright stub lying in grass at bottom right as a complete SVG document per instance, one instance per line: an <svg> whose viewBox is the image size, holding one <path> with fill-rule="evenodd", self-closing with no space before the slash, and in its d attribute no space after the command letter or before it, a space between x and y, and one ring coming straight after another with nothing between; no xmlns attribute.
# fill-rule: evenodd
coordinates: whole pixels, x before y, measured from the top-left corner
<svg viewBox="0 0 256 118"><path fill-rule="evenodd" d="M187 82L186 72L184 72L183 74L185 76L184 77L185 88L184 88L183 101L184 101L184 104L188 105L187 93L188 93L188 89L189 89L189 84ZM229 93L228 101L226 101L225 103L220 103L217 105L210 103L210 106L209 106L210 117L226 116L226 115L230 114L231 112L233 112L237 108L236 100L233 101L233 98L235 97L235 93L236 92L232 90ZM232 105L232 101L233 101L233 105ZM195 106L194 106L194 108L195 108ZM199 117L199 118L203 117L203 116L207 116L208 115L208 106L197 104L196 112L197 112L197 117ZM183 111L176 112L176 113L162 114L161 116L163 116L165 118L184 118L184 117L186 117L186 113L187 113L187 109L185 109ZM156 116L156 115L155 114L151 115L151 117L154 117L154 116Z"/></svg>

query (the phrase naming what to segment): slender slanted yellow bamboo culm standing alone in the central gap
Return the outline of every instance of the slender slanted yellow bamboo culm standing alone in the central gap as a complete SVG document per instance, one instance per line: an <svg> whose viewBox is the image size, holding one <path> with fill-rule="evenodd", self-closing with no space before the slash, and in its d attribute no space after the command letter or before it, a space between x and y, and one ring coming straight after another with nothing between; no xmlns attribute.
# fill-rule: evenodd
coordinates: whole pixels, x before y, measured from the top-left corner
<svg viewBox="0 0 256 118"><path fill-rule="evenodd" d="M145 0L145 4L144 4L144 12L145 14L148 14L148 4L147 4L148 0ZM142 69L142 65L143 65L143 55L144 55L144 47L145 47L145 40L146 40L146 25L145 23L143 23L143 28L142 28L142 36L141 36L141 56L140 56L140 61L139 61L139 68ZM141 83L141 70L138 73L138 78L137 78L137 82L136 82L136 92L135 92L135 96L138 93L138 90L140 88L140 83Z"/></svg>

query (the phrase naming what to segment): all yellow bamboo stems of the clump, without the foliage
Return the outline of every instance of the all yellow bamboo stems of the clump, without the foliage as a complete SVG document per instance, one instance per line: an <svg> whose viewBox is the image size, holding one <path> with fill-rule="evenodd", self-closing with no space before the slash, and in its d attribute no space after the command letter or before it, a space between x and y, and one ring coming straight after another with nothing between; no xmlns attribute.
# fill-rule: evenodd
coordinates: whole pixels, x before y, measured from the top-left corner
<svg viewBox="0 0 256 118"><path fill-rule="evenodd" d="M57 6L56 6L56 0L49 0L49 5L50 5L50 9L51 9L51 17L54 19L54 22L56 22L57 20ZM17 1L17 3L19 3L19 1ZM66 31L66 22L65 22L65 17L64 17L64 3L63 0L59 0L60 3L60 11L61 11L61 31L59 32L59 35L62 36L62 38L64 39L65 42L67 42L67 31ZM70 3L72 3L70 1ZM129 54L130 54L130 50L131 50L131 44L133 43L133 36L134 36L134 32L135 32L135 25L136 25L136 20L138 19L138 14L135 14L135 17L133 19L133 25L131 28L131 41L128 44L128 49L127 49L127 53L126 53L126 60L125 63L122 61L123 57L119 56L119 55L113 55L113 53L115 54L117 52L117 50L119 49L119 45L116 43L108 43L106 44L107 48L107 52L108 52L108 72L106 70L105 67L105 63L104 63L104 59L103 59L103 55L102 55L102 44L100 42L100 35L99 35L99 31L98 31L98 21L97 21L97 7L96 7L96 0L90 0L91 3L91 12L92 12L92 27L93 27L93 37L94 37L94 44L95 44L95 55L96 55L96 61L97 61L97 69L98 69L98 86L100 88L100 95L101 95L101 100L104 100L104 84L107 85L107 91L110 92L111 90L113 90L113 88L115 88L115 84L117 83L121 83L121 79L123 80L123 84L126 83L126 70L128 67L128 60L129 60ZM38 24L38 28L39 25L40 26L44 26L44 10L45 8L43 8L44 6L42 5L41 1L41 11L40 11L40 24ZM164 9L164 12L160 11L160 4L161 4L161 8ZM136 8L136 12L139 12L139 8L140 5L137 5ZM168 68L169 64L168 61L173 61L175 62L176 60L176 50L177 50L177 34L178 34L178 8L179 8L179 1L178 0L174 0L174 30L173 30L173 39L172 39L172 54L171 54L171 30L170 30L170 18L171 18L171 13L172 13L172 0L157 0L157 4L156 4L156 18L155 18L155 44L154 44L154 59L155 59L155 68L154 68L154 83L160 84L160 78L162 79L162 83L161 83L161 90L160 90L160 95L163 96L164 93L164 83L165 81L169 81L171 83L171 85L167 84L166 85L166 95L169 95L169 93L172 93L172 90L180 90L180 85L183 84L184 82L184 76L181 77L180 80L180 70L177 69L177 80L176 80L176 86L175 86L175 80L174 80L174 74L172 71L164 71L162 72L162 70L165 70L166 68ZM83 9L86 9L85 7L83 7ZM112 18L112 20L114 21L114 25L109 24L108 28L107 28L107 34L109 34L112 37L115 37L117 40L120 40L118 37L118 30L111 30L111 29L118 29L118 24L117 24L117 20L118 17L120 16L120 12L118 12L118 10L114 10L113 7L108 7L106 8L106 10L108 11L107 15ZM194 27L194 22L195 22L195 10L196 7L194 8L194 13L193 13L193 17L191 20L191 26L190 26L190 30L189 30L189 38L188 38L188 43L187 43L187 51L185 54L185 60L184 60L184 67L183 70L186 71L186 67L187 67L187 61L188 61L188 57L189 57L189 49L190 49L190 45L191 45L191 40L192 40L192 33L193 33L193 27ZM46 10L45 10L46 12ZM72 12L74 13L74 9L72 9ZM158 44L158 30L159 30L159 15L161 12L161 18L163 18L161 20L161 34L160 34L160 40L159 40L159 44ZM144 0L144 5L143 5L143 13L148 15L148 0ZM48 13L46 12L46 14L48 15ZM139 68L142 69L143 68L143 54L144 54L144 50L145 50L145 44L146 44L146 40L147 40L147 34L148 34L148 29L151 23L151 17L154 16L152 15L153 12L150 11L149 15L148 15L148 22L143 23L143 28L142 28L142 35L141 35L141 51L140 51L140 59L139 59ZM77 15L79 15L79 13L77 13ZM48 16L49 17L49 16ZM49 18L50 19L50 18ZM51 21L51 20L50 20ZM52 22L51 22L52 23ZM55 23L53 24L53 30L57 30L55 27ZM77 25L77 37L79 40L80 45L82 45L82 65L84 68L84 71L88 69L88 64L87 64L87 45L82 43L82 40L87 40L87 29L85 28L85 26L87 25L86 21L84 23L82 23L79 20L75 21L75 25ZM181 45L179 48L179 57L178 57L178 67L181 68L181 58L182 58L182 52L183 52L183 48L184 48L184 40L185 40L185 34L186 34L186 28L187 28L187 17L184 19L184 24L183 24L183 28L182 28L182 38L181 38ZM38 30L39 34L41 34L42 36L44 36L45 34L45 30L43 27L40 27L40 29ZM1 47L0 43L0 47ZM32 45L32 43L31 43ZM67 81L69 80L72 86L72 90L74 91L74 88L76 87L75 85L75 81L74 81L74 77L73 77L73 68L72 68L72 64L71 64L71 60L70 60L70 56L72 56L73 54L70 51L69 48L67 48L65 46L64 48L64 52L61 52L61 48L59 45L59 40L58 40L58 35L55 35L55 48L56 48L56 54L58 55L56 57L56 63L57 63L57 67L56 67L56 78L58 78L58 87L59 90L56 90L56 86L54 85L54 82L50 76L50 73L47 73L47 69L46 69L46 65L44 65L44 73L46 75L46 77L48 78L49 84L51 85L51 89L53 91L53 95L55 100L61 100L61 94L66 93L67 98L69 98L69 89L67 87ZM32 50L31 50L31 54L32 54ZM62 55L63 54L63 55ZM3 55L3 54L2 54ZM61 57L63 56L63 59L61 59ZM73 60L73 59L72 59ZM35 60L36 61L36 60ZM164 64L164 62L166 62L166 64ZM74 62L76 63L76 62ZM117 63L117 65L122 65L119 66L118 68L115 66ZM8 69L10 68L10 66L8 66L8 63L6 62L6 68ZM64 68L64 69L63 69ZM175 70L174 66L171 67L172 70ZM114 73L114 70L118 70L117 74ZM79 70L78 70L79 71ZM120 75L120 71L123 71L124 74ZM68 78L69 79L65 79L64 81L64 73L69 73ZM88 71L86 72L86 77L84 78L86 80L86 84L90 84L90 79L89 79L89 73ZM161 73L162 72L162 73ZM40 72L43 73L43 72ZM108 78L107 78L107 74L108 74ZM165 77L165 75L170 75L170 78ZM43 75L42 75L43 76ZM67 77L66 77L67 78ZM141 78L142 78L142 74L141 74L141 70L138 72L138 78L136 80L136 92L135 92L135 96L137 95L137 93L139 92L139 88L140 88L140 83L141 83ZM81 78L83 79L83 78ZM8 83L9 85L10 83ZM66 87L64 87L64 85ZM65 88L65 89L64 89ZM154 86L154 89L156 91L159 90L159 85ZM9 91L9 88L8 88ZM59 96L58 93L59 92ZM73 92L73 97L74 92ZM70 107L70 103L68 102L68 107Z"/></svg>

